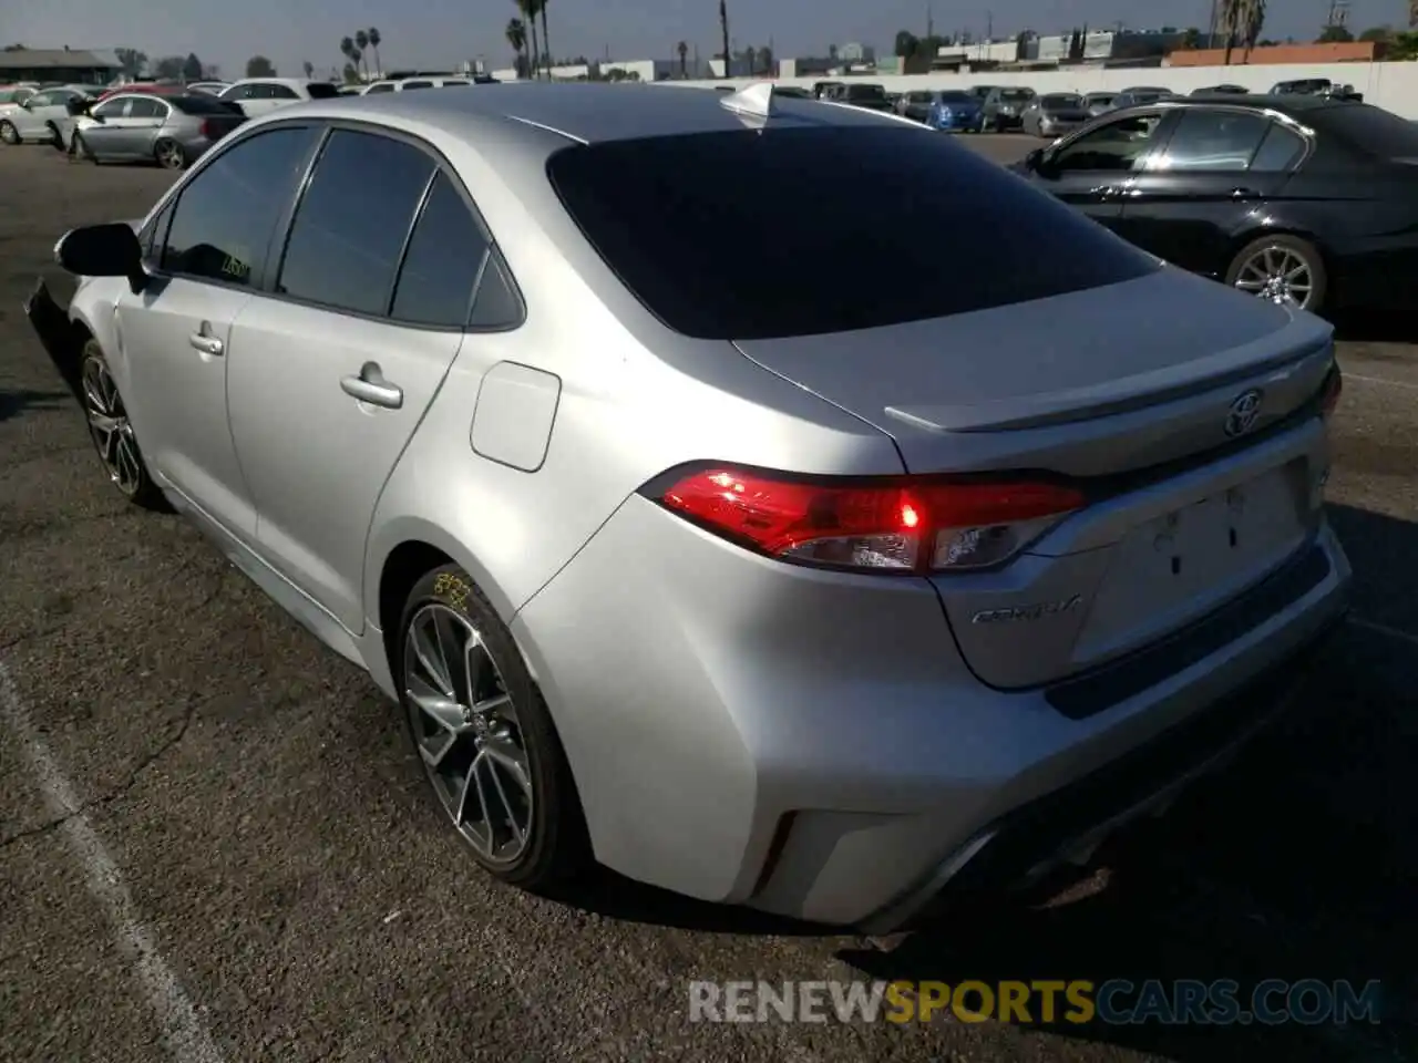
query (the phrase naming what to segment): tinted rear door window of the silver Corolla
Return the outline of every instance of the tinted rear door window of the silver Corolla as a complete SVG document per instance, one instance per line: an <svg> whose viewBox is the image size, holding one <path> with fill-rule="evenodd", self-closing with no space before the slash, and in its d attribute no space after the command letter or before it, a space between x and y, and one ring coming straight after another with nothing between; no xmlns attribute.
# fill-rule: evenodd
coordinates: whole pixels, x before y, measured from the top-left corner
<svg viewBox="0 0 1418 1063"><path fill-rule="evenodd" d="M401 140L337 129L296 208L278 291L384 315L434 162Z"/></svg>

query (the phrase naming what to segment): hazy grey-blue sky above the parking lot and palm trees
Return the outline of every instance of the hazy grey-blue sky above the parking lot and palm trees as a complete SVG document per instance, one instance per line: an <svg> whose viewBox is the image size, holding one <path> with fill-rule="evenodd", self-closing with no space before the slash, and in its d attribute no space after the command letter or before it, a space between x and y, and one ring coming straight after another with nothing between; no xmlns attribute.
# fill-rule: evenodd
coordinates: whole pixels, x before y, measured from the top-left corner
<svg viewBox="0 0 1418 1063"><path fill-rule="evenodd" d="M937 33L968 30L997 37L1024 28L1049 34L1124 20L1133 28L1200 26L1211 0L727 0L735 45L771 41L780 57L821 55L828 44L861 41L889 51L898 30L926 31L927 4ZM1313 40L1329 0L1271 3L1266 37ZM509 67L505 27L512 0L35 0L0 4L0 44L31 48L139 48L150 57L196 52L227 77L251 55L282 74L309 60L323 75L342 67L339 41L377 26L386 69L445 68L465 60ZM1350 0L1354 33L1402 26L1405 0ZM718 0L550 0L547 21L557 58L669 60L686 41L705 57L718 50Z"/></svg>

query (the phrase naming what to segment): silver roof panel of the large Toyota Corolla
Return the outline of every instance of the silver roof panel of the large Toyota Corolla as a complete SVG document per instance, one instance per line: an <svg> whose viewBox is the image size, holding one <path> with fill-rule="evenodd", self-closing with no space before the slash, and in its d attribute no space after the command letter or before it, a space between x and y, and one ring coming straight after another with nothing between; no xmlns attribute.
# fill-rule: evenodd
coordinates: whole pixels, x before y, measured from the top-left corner
<svg viewBox="0 0 1418 1063"><path fill-rule="evenodd" d="M752 119L726 108L725 99L683 85L510 82L479 86L476 92L381 92L311 101L281 108L272 118L363 119L394 128L413 120L474 145L489 125L505 132L525 130L527 139L540 129L567 140L598 143L744 129ZM774 106L770 128L892 122L922 129L905 118L798 96L776 98Z"/></svg>

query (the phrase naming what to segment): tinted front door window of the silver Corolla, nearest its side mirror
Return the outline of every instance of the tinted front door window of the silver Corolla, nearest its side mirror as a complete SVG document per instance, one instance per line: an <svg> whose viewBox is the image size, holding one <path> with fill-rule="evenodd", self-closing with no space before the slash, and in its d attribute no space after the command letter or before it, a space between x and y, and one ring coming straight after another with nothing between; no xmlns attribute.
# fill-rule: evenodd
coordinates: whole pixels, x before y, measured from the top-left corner
<svg viewBox="0 0 1418 1063"><path fill-rule="evenodd" d="M235 145L183 190L163 268L250 285L303 173L312 129L272 129Z"/></svg>

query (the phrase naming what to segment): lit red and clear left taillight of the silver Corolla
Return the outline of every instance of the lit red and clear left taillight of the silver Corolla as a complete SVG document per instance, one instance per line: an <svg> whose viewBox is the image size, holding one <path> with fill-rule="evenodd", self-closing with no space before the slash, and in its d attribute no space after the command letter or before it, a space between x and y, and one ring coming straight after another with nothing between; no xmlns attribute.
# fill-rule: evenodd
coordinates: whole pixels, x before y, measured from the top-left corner
<svg viewBox="0 0 1418 1063"><path fill-rule="evenodd" d="M1086 505L1082 492L1041 482L807 479L726 466L645 493L769 557L878 573L988 568Z"/></svg>

